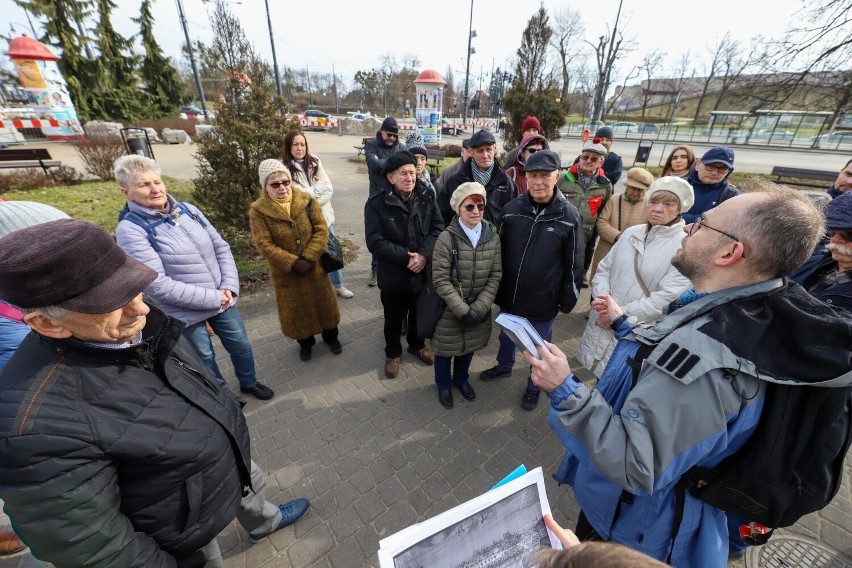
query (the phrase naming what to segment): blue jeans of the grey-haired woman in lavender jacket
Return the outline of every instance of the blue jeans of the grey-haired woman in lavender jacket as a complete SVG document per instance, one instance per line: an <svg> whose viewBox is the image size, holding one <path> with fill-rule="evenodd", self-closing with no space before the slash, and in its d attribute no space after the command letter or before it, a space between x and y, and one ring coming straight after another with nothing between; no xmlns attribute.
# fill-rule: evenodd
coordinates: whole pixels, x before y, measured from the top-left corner
<svg viewBox="0 0 852 568"><path fill-rule="evenodd" d="M240 387L253 387L257 383L257 376L254 371L254 354L251 351L248 333L246 333L246 326L243 323L240 311L236 306L233 306L220 314L207 318L207 322L219 336L219 339L222 340L225 351L231 356L234 374L240 381ZM224 383L225 379L216 364L213 342L210 340L210 334L207 333L204 322L200 321L187 327L183 330L183 336L192 343L207 368L213 371L220 382Z"/></svg>

